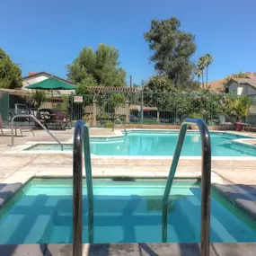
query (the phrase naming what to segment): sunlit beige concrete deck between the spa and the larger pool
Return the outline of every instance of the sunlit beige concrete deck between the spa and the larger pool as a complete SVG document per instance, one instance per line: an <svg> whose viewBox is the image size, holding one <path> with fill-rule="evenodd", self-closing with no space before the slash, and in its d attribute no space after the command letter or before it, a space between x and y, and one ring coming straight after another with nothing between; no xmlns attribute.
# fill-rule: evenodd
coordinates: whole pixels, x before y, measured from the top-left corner
<svg viewBox="0 0 256 256"><path fill-rule="evenodd" d="M9 132L9 135L8 135ZM7 136L0 137L0 182L25 181L34 176L71 176L72 175L72 154L8 154L12 150L10 131L4 131ZM71 142L73 129L66 131L52 131L62 142ZM234 132L235 133L235 132ZM256 136L253 133L235 133L246 136ZM90 128L90 136L116 136L116 132L107 128ZM52 137L43 131L35 130L35 137L26 132L24 137L15 137L15 148L28 142L52 143ZM252 139L252 141L254 141ZM212 171L227 181L242 185L256 185L256 157L253 161L234 159L217 159L212 161ZM113 159L113 158L92 158L94 176L149 176L166 177L172 159ZM177 175L199 176L201 173L201 161L199 159L181 159ZM11 179L11 180L10 180Z"/></svg>

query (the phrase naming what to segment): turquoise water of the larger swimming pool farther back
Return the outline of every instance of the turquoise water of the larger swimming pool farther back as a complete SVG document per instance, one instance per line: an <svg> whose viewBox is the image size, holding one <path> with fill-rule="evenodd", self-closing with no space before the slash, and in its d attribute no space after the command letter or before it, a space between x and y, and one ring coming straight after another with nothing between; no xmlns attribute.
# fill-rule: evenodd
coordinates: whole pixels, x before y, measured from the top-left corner
<svg viewBox="0 0 256 256"><path fill-rule="evenodd" d="M91 153L97 155L153 155L172 156L178 139L173 131L131 131L118 138L92 138ZM244 138L228 133L210 133L213 156L255 156L256 150L250 146L236 145L232 141ZM27 150L60 150L58 145L40 144ZM72 145L65 145L65 151L72 151ZM181 151L184 156L201 155L199 132L188 132Z"/></svg>

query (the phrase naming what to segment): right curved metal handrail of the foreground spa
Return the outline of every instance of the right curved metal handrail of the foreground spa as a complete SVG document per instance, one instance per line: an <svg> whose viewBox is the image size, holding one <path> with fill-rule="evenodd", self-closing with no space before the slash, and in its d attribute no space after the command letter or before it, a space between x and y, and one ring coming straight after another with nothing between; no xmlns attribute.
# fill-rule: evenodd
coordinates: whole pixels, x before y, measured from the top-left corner
<svg viewBox="0 0 256 256"><path fill-rule="evenodd" d="M201 177L201 255L209 255L210 244L210 188L211 188L211 145L206 123L203 119L185 119L181 124L181 131L172 159L172 166L163 194L162 238L167 240L167 208L172 181L179 163L181 149L189 125L197 125L202 141L202 177Z"/></svg>

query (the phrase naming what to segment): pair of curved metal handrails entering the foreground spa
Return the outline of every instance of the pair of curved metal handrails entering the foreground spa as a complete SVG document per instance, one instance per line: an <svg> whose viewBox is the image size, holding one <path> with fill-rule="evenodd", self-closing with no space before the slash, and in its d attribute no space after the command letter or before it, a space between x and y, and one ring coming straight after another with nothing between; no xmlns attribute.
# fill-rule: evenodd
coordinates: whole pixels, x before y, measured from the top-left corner
<svg viewBox="0 0 256 256"><path fill-rule="evenodd" d="M202 142L202 175L201 175L201 255L209 256L210 245L210 188L211 188L211 146L208 128L203 119L185 119L172 159L172 166L163 194L162 240L167 242L167 208L172 182L179 163L181 149L188 126L197 125ZM73 149L73 255L82 256L83 240L83 148L88 199L88 236L93 243L93 180L90 154L89 128L83 120L75 125Z"/></svg>

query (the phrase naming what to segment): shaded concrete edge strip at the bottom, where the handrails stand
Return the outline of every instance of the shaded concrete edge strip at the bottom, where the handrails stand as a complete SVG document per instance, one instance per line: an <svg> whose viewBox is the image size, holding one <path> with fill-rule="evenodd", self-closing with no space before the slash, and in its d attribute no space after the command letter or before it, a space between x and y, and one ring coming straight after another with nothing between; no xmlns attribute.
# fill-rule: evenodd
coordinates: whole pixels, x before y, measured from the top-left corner
<svg viewBox="0 0 256 256"><path fill-rule="evenodd" d="M210 256L253 256L256 243L210 243ZM0 245L1 256L73 256L72 244ZM83 256L200 256L200 243L96 243L83 244Z"/></svg>

